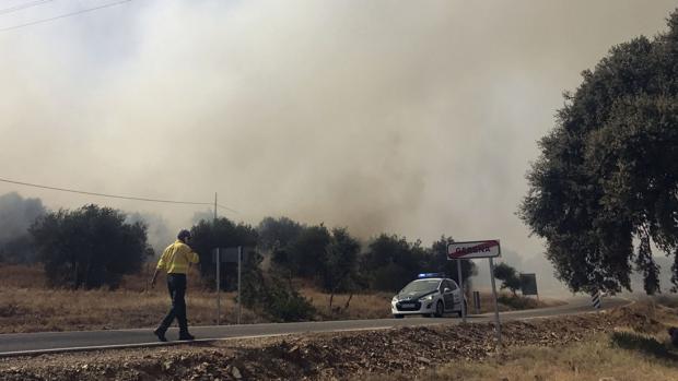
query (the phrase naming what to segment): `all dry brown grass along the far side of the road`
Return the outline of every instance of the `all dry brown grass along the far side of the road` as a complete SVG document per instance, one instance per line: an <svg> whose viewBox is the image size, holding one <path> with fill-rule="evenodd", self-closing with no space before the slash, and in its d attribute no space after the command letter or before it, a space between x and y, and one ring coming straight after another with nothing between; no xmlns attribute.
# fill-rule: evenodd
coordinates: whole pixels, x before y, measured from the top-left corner
<svg viewBox="0 0 678 381"><path fill-rule="evenodd" d="M0 273L7 274L0 279L0 333L152 328L166 312L168 297L162 285L148 289L151 271L149 264L139 274L124 276L115 289L71 289L48 286L49 281L38 265L0 264ZM197 276L196 269L191 271L196 276L188 277L188 319L195 325L215 324L217 295L213 286L204 284ZM162 282L162 278L159 281ZM390 318L393 294L388 291L330 296L303 278L293 279L290 287L297 290L313 309L313 314L306 320ZM330 297L334 297L331 309ZM235 291L222 291L222 324L236 323L235 299ZM559 303L558 300L541 300L538 303L536 299L529 300L535 301L530 306L533 308ZM491 294L481 294L481 312L493 308ZM516 308L500 303L500 310L511 309ZM280 319L257 307L242 308L241 322L244 324L273 321Z"/></svg>

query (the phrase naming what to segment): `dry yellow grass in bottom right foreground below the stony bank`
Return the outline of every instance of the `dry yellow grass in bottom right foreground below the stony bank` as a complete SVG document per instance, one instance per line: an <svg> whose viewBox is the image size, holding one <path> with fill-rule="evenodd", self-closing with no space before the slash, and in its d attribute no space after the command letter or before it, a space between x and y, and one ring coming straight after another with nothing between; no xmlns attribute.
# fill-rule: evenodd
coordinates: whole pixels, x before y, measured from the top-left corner
<svg viewBox="0 0 678 381"><path fill-rule="evenodd" d="M656 300L656 299L654 299ZM678 380L678 348L666 329L678 322L674 300L638 302L635 310L618 309L627 322L611 333L583 342L504 348L487 360L466 359L423 370L417 379L430 381L638 381ZM375 376L371 381L405 381L411 376Z"/></svg>

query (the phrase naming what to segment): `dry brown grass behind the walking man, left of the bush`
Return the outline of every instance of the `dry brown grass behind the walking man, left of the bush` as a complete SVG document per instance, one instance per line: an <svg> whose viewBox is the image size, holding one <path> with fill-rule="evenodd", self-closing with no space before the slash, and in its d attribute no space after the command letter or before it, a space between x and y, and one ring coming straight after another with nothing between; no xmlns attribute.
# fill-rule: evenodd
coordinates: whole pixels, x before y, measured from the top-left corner
<svg viewBox="0 0 678 381"><path fill-rule="evenodd" d="M164 275L148 289L151 272L126 277L116 290L50 289L39 267L4 265L0 274L0 333L151 328L170 308ZM215 324L217 295L204 290L196 273L188 278L190 324ZM236 321L234 298L234 293L221 295L223 323ZM242 322L265 320L243 308Z"/></svg>

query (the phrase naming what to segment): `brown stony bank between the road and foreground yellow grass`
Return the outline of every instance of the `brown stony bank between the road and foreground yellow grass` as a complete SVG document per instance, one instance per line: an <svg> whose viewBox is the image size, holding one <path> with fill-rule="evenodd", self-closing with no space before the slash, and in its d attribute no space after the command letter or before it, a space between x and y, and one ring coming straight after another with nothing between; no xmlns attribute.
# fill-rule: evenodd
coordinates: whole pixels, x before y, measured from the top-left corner
<svg viewBox="0 0 678 381"><path fill-rule="evenodd" d="M503 345L558 346L595 333L665 326L642 306L608 313L502 324ZM209 344L0 359L1 380L352 380L400 373L417 378L454 359L498 353L493 324L400 328L230 340Z"/></svg>

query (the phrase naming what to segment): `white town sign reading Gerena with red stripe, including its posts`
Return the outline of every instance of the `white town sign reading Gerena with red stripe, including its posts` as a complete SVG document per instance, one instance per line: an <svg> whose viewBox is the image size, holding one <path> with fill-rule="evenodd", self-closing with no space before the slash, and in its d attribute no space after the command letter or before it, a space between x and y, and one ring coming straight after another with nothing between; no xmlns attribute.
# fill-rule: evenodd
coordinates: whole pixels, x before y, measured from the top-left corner
<svg viewBox="0 0 678 381"><path fill-rule="evenodd" d="M496 343L501 346L502 333L501 323L499 321L499 302L496 300L496 285L494 283L494 257L500 257L502 253L499 245L499 239L491 239L486 241L469 241L469 242L452 242L447 245L447 260L463 260L472 258L487 258L490 261L490 278L492 281L492 297L494 298L494 324L496 326ZM460 261L457 263L460 273ZM459 281L461 275L459 274ZM464 288L461 288L464 291ZM464 301L461 301L464 303ZM464 309L464 307L461 307ZM464 311L464 310L463 310ZM465 312L463 312L465 314ZM466 321L466 319L465 319Z"/></svg>

